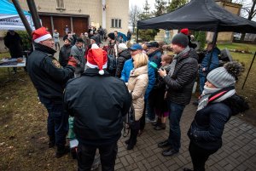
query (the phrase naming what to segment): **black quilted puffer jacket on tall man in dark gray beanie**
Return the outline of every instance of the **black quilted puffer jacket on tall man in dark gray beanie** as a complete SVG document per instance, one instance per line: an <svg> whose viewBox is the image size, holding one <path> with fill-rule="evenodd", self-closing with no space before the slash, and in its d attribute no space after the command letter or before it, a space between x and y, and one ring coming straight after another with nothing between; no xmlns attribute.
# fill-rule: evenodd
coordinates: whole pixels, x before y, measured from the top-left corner
<svg viewBox="0 0 256 171"><path fill-rule="evenodd" d="M198 56L193 48L177 59L172 77L166 76L167 99L179 105L188 105L198 70Z"/></svg>

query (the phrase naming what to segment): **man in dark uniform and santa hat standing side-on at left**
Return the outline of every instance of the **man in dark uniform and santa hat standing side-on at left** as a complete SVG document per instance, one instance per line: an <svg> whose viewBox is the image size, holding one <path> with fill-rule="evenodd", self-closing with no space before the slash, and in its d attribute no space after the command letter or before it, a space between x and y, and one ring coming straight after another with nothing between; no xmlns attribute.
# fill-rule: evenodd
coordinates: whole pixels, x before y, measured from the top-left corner
<svg viewBox="0 0 256 171"><path fill-rule="evenodd" d="M64 112L62 94L67 80L73 77L75 63L70 60L63 68L53 56L54 42L45 27L32 32L35 50L27 60L27 71L38 91L40 101L46 107L49 116L47 134L49 148L57 146L55 157L67 153L66 135L68 131L68 114Z"/></svg>

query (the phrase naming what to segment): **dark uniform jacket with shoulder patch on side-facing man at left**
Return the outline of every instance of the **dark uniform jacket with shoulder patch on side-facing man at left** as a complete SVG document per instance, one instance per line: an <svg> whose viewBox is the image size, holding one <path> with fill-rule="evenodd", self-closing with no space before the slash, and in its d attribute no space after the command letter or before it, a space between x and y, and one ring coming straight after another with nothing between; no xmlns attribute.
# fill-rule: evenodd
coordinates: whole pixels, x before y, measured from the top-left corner
<svg viewBox="0 0 256 171"><path fill-rule="evenodd" d="M64 86L73 77L74 68L63 68L53 54L54 49L35 43L35 50L27 59L27 71L39 96L62 100Z"/></svg>

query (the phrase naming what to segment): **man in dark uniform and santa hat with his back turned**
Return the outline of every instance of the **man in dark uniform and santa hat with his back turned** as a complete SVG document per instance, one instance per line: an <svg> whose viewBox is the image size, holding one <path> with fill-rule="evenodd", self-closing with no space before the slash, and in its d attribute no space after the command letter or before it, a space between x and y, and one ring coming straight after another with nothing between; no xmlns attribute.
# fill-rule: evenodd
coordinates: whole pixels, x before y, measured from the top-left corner
<svg viewBox="0 0 256 171"><path fill-rule="evenodd" d="M88 68L67 83L64 106L74 117L74 132L79 140L78 170L90 170L96 149L101 154L102 170L114 170L123 119L131 105L131 95L125 83L111 77L107 68L107 53L92 44Z"/></svg>

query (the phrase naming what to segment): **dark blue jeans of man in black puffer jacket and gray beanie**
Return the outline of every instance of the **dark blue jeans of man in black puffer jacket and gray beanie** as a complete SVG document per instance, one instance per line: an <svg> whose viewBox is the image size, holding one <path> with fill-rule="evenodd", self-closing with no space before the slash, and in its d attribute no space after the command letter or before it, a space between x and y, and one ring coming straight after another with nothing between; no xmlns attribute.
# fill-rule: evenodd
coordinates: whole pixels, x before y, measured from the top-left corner
<svg viewBox="0 0 256 171"><path fill-rule="evenodd" d="M185 105L178 105L177 103L173 103L169 101L169 124L170 124L170 132L168 141L172 148L176 151L180 148L180 118L182 117L183 110Z"/></svg>

